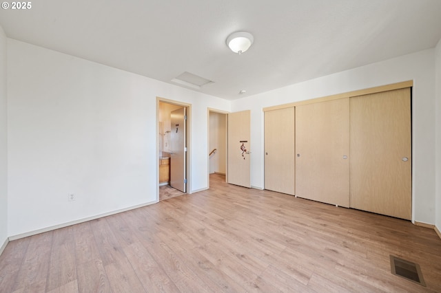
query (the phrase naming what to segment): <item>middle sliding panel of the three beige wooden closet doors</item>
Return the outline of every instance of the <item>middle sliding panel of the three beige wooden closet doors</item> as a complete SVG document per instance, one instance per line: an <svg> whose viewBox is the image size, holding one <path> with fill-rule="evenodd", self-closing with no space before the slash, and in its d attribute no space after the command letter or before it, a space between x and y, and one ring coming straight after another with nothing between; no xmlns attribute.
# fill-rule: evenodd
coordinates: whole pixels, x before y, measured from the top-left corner
<svg viewBox="0 0 441 293"><path fill-rule="evenodd" d="M349 207L349 98L296 107L296 196Z"/></svg>

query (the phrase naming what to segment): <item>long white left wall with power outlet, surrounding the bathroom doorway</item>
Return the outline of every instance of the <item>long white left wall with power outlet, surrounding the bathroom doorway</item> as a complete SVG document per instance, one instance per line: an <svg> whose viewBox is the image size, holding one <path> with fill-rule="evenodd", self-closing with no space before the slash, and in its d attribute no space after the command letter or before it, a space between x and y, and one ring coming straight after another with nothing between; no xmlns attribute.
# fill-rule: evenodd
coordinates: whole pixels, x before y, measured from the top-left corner
<svg viewBox="0 0 441 293"><path fill-rule="evenodd" d="M207 188L207 107L229 102L8 39L9 235L155 202L156 96L192 104L190 186Z"/></svg>

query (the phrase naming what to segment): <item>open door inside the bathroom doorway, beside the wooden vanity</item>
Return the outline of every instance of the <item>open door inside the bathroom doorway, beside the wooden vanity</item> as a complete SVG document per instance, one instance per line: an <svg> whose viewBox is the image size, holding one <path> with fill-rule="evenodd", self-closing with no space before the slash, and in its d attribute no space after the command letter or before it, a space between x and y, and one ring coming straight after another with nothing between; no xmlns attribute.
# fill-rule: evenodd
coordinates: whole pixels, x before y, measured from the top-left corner
<svg viewBox="0 0 441 293"><path fill-rule="evenodd" d="M186 127L185 107L172 111L170 133L170 186L186 192L185 157L187 144L185 142Z"/></svg>

